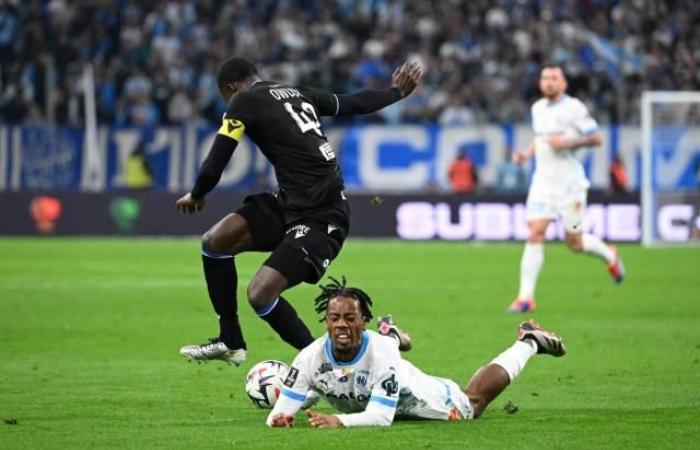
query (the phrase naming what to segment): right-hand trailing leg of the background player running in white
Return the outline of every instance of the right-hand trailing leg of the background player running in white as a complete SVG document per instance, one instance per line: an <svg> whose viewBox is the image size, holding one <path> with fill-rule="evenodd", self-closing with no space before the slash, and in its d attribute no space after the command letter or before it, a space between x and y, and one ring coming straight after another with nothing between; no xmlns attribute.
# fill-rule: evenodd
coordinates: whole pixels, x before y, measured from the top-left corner
<svg viewBox="0 0 700 450"><path fill-rule="evenodd" d="M620 283L624 277L624 266L612 245L607 245L598 236L583 232L586 191L582 190L567 197L560 214L566 230L566 245L574 252L583 252L603 260L615 282Z"/></svg>

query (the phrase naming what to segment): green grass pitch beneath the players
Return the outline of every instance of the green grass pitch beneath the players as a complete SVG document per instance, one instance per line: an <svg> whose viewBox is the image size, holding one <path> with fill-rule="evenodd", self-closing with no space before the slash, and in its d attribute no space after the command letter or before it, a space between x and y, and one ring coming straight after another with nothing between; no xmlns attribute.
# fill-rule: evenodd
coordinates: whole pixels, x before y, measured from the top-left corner
<svg viewBox="0 0 700 450"><path fill-rule="evenodd" d="M700 441L700 249L621 248L629 276L546 248L535 319L569 354L533 358L472 422L399 422L390 429L265 427L243 377L295 352L255 317L245 287L260 254L237 257L248 360L187 363L183 344L214 335L199 243L139 239L0 239L2 448L689 448ZM329 274L367 290L375 316L409 330L408 358L466 382L509 346L523 316L504 314L520 244L357 241ZM288 298L322 325L300 286ZM528 316L529 317L529 316ZM509 414L508 402L518 407ZM328 411L327 406L320 410Z"/></svg>

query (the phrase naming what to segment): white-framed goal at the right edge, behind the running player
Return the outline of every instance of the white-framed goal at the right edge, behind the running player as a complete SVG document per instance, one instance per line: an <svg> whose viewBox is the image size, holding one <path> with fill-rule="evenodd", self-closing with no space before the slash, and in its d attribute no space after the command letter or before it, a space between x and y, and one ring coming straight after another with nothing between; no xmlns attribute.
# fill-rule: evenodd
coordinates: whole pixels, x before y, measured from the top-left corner
<svg viewBox="0 0 700 450"><path fill-rule="evenodd" d="M642 243L700 243L700 92L642 94Z"/></svg>

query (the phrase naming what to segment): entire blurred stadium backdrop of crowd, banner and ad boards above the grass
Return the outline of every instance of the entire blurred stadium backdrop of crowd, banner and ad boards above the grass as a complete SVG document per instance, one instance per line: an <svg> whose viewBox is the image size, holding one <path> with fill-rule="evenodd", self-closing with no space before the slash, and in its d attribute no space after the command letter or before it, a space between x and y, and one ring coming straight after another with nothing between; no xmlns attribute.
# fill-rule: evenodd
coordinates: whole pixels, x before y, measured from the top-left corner
<svg viewBox="0 0 700 450"><path fill-rule="evenodd" d="M216 68L240 55L263 78L333 92L386 87L407 59L423 66L404 101L324 119L352 233L417 240L526 236L533 167L510 154L532 139L541 65L559 63L604 136L577 154L587 228L638 241L641 95L698 90L699 25L692 0L0 0L0 233L197 234L274 189L246 141L202 215L174 212L225 107ZM661 240L700 234L699 109L653 118L653 187L674 194L653 206Z"/></svg>

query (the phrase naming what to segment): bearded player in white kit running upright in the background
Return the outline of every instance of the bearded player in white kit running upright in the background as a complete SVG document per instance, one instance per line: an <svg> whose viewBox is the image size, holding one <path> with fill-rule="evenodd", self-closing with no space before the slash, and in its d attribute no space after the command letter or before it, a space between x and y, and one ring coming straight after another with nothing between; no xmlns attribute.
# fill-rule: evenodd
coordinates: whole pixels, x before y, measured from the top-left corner
<svg viewBox="0 0 700 450"><path fill-rule="evenodd" d="M533 311L535 286L544 263L545 232L561 218L566 243L574 252L596 256L607 264L615 282L624 277L624 266L614 246L583 232L586 194L590 183L574 151L599 146L598 124L579 99L566 94L566 77L558 65L546 65L540 74L542 98L532 105L534 141L513 155L521 164L535 157L535 173L527 196L526 219L530 230L520 261L520 290L508 309Z"/></svg>

